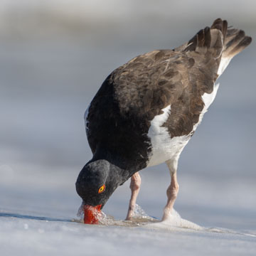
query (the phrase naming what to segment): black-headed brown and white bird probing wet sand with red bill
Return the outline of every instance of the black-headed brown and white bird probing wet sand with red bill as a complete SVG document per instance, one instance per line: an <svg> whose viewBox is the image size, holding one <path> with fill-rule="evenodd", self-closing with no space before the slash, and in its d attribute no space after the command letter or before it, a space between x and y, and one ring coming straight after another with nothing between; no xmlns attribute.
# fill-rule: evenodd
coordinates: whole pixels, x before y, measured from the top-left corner
<svg viewBox="0 0 256 256"><path fill-rule="evenodd" d="M129 178L126 220L132 220L139 171L164 162L171 183L161 220L171 218L181 151L215 99L217 78L251 41L244 31L217 18L182 46L144 53L107 76L85 111L93 156L75 183L85 224L99 223L105 203Z"/></svg>

